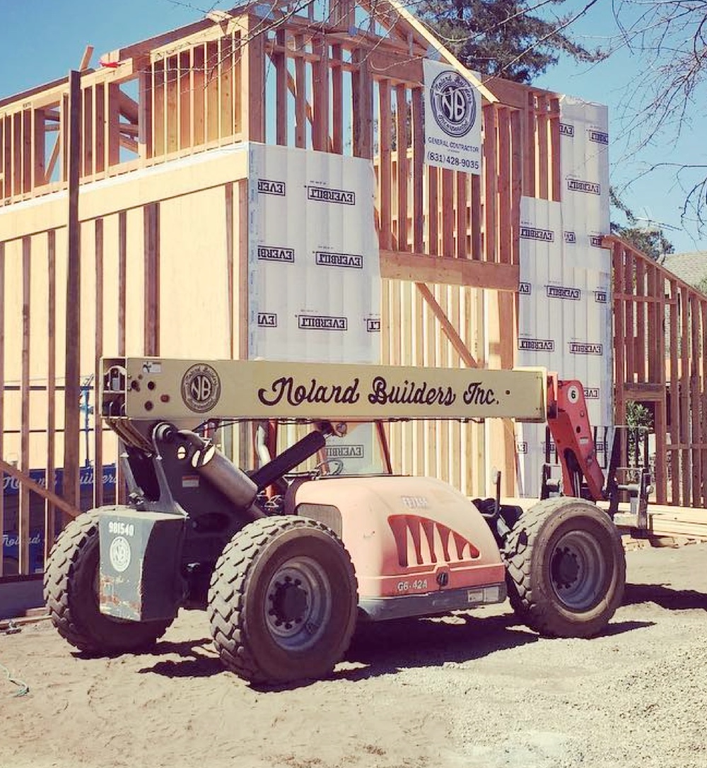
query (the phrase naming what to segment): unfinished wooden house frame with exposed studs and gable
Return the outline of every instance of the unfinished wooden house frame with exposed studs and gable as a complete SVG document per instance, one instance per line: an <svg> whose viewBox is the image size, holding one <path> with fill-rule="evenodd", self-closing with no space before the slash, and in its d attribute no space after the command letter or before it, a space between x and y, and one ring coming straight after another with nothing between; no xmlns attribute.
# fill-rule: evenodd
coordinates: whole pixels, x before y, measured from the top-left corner
<svg viewBox="0 0 707 768"><path fill-rule="evenodd" d="M57 509L73 515L78 508L80 379L94 371L90 361L170 352L165 222L180 195L209 196L219 209L214 243L226 286L219 351L246 354L246 179L237 154L219 153L224 147L257 141L372 160L382 362L513 366L520 197L560 199L560 95L500 79L479 84L481 176L428 167L427 57L461 67L396 0L330 0L299 12L246 5L0 100L0 470L20 489L21 572L29 568L31 495L45 499L46 531L55 529ZM200 180L180 173L190 158L206 169ZM670 382L681 405L672 398L670 444L658 441L658 498L704 502L705 419L695 427L686 413L703 392L704 363L696 361L704 361L707 300L623 243L612 247L617 415L640 395L662 403L656 428L664 427ZM664 317L682 345L670 344L667 358L660 356ZM633 343L622 335L630 328ZM485 432L456 423L391 425L388 438L398 471L438 475L471 494L487 492L485 468L494 464L504 469L504 491L514 492L507 424ZM100 431L91 441L100 468L110 451ZM670 495L666 455L673 481L681 481ZM63 465L61 498L51 482L41 488L29 480L38 460L48 478ZM94 504L102 502L96 483Z"/></svg>

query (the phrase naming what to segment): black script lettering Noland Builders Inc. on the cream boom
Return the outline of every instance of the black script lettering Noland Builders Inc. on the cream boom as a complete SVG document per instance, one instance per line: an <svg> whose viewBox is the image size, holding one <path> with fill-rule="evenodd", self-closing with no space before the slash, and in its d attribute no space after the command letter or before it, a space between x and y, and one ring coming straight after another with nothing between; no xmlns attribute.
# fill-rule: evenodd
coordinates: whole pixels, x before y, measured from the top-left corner
<svg viewBox="0 0 707 768"><path fill-rule="evenodd" d="M361 380L341 384L322 384L317 379L306 383L298 382L294 376L280 376L269 386L258 389L258 399L264 406L277 406L287 402L290 406L302 403L336 402L354 405L362 395ZM365 394L372 406L417 405L417 406L452 406L458 397L465 405L497 406L497 399L491 387L485 388L481 382L467 382L462 392L455 392L451 386L434 386L428 382L413 382L405 379L402 384L392 384L384 376L375 376L370 382L370 389Z"/></svg>

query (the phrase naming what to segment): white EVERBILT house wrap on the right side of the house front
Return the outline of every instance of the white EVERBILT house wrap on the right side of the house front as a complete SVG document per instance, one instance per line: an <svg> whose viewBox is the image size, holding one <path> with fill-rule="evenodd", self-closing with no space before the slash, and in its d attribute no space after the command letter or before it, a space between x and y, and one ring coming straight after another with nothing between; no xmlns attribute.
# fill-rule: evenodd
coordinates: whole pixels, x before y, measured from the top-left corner
<svg viewBox="0 0 707 768"><path fill-rule="evenodd" d="M582 382L603 462L604 428L613 424L611 252L601 247L609 232L608 114L571 98L560 114L561 202L520 204L517 362ZM546 429L518 425L517 450L520 493L536 496ZM550 462L552 453L550 445Z"/></svg>

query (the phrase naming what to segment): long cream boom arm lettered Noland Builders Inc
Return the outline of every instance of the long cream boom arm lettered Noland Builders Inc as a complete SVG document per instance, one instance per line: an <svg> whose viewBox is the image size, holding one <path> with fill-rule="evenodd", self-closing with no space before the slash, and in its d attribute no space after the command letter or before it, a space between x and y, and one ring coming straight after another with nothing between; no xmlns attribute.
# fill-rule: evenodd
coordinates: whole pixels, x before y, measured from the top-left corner
<svg viewBox="0 0 707 768"><path fill-rule="evenodd" d="M111 425L124 419L546 418L546 374L540 369L128 357L104 359L102 370L101 414Z"/></svg>

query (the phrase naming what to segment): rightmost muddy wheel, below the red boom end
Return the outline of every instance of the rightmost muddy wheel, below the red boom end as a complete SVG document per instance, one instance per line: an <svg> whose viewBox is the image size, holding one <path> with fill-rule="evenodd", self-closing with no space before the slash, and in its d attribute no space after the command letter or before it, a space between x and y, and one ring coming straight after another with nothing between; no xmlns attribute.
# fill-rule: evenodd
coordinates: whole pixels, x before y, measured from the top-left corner
<svg viewBox="0 0 707 768"><path fill-rule="evenodd" d="M504 548L515 613L547 637L592 637L623 600L626 554L590 502L550 498L521 515Z"/></svg>

